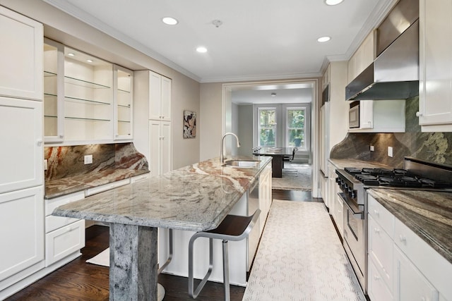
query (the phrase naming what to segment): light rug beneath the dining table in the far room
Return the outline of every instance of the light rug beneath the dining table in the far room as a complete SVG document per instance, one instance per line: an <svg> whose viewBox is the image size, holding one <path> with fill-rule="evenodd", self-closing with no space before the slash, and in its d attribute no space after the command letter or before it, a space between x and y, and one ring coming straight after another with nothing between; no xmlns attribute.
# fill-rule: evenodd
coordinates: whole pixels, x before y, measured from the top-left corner
<svg viewBox="0 0 452 301"><path fill-rule="evenodd" d="M312 166L309 164L285 163L283 178L272 178L273 189L312 190Z"/></svg>

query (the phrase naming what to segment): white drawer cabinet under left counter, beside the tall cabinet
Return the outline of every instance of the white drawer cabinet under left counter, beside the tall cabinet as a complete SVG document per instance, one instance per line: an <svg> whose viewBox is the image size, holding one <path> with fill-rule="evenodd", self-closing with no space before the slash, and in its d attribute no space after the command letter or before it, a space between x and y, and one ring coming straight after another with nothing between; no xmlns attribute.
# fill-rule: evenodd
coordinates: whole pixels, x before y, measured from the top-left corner
<svg viewBox="0 0 452 301"><path fill-rule="evenodd" d="M45 200L45 266L51 266L70 255L78 256L81 254L80 249L85 247L84 219L52 216L57 207L84 197L85 192L81 191Z"/></svg>

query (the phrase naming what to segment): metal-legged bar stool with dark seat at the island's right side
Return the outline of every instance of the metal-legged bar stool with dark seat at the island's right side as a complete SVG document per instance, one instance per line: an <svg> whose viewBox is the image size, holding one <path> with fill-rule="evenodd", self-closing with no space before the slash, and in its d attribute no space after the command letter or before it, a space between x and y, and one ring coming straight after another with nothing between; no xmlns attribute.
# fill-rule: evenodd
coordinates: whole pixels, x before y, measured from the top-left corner
<svg viewBox="0 0 452 301"><path fill-rule="evenodd" d="M230 300L229 285L229 257L227 252L227 241L238 241L246 238L256 223L261 210L257 209L251 216L227 215L217 228L209 231L196 232L191 236L189 242L189 295L196 299L208 281L213 269L213 239L222 240L223 257L223 283L225 285L225 300ZM194 290L194 242L197 238L209 238L209 268L206 276Z"/></svg>

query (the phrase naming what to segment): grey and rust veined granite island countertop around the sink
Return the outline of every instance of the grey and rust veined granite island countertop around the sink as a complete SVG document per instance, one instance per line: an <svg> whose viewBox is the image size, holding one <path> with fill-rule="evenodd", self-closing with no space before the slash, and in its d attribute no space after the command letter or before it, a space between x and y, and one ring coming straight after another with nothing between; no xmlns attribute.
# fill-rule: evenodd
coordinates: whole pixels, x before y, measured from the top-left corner
<svg viewBox="0 0 452 301"><path fill-rule="evenodd" d="M65 204L53 215L206 231L218 226L271 161L254 159L261 161L256 168L223 167L210 159Z"/></svg>

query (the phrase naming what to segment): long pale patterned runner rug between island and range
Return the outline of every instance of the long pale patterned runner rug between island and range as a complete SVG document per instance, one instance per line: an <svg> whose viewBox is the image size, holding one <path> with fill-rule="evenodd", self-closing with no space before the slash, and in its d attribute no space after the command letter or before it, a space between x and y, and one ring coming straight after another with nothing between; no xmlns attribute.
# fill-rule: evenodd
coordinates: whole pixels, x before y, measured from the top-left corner
<svg viewBox="0 0 452 301"><path fill-rule="evenodd" d="M273 201L243 300L366 300L322 203Z"/></svg>

